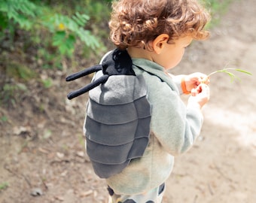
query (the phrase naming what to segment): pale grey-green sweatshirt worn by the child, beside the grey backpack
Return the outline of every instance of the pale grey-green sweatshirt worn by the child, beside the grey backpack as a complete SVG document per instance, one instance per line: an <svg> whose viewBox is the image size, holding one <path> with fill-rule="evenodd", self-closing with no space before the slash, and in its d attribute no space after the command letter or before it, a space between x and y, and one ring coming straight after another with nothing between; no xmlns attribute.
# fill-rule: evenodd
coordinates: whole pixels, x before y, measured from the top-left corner
<svg viewBox="0 0 256 203"><path fill-rule="evenodd" d="M171 77L163 67L146 59L133 59L133 70L144 77L148 87L151 133L143 156L106 179L120 195L140 194L164 183L172 172L174 156L192 147L203 124L200 108L181 101L181 77Z"/></svg>

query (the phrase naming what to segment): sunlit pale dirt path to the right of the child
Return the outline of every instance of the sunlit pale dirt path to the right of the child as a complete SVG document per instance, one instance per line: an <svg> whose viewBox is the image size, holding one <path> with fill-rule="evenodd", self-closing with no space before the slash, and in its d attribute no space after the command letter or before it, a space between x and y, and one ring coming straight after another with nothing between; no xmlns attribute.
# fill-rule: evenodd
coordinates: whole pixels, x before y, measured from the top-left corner
<svg viewBox="0 0 256 203"><path fill-rule="evenodd" d="M201 137L176 159L166 203L256 201L255 5L254 0L235 2L209 41L191 47L175 70L210 73L227 65L253 76L235 72L240 83L230 83L223 73L212 76Z"/></svg>

